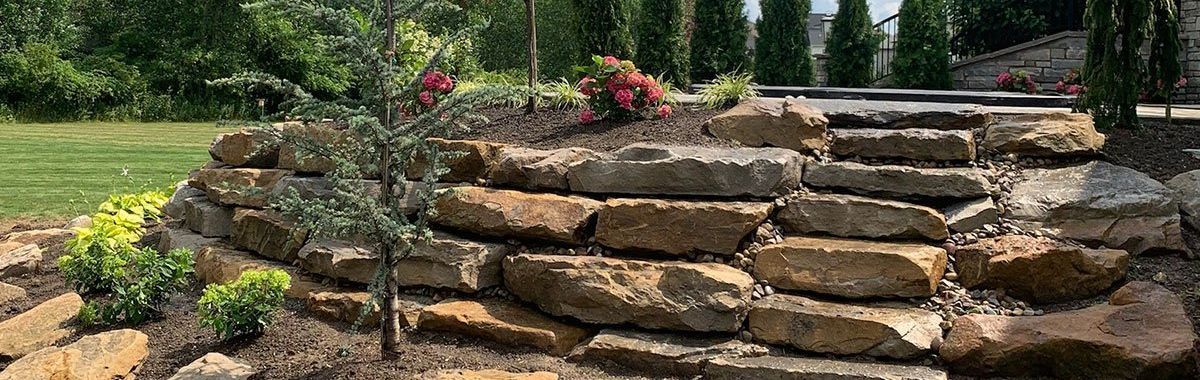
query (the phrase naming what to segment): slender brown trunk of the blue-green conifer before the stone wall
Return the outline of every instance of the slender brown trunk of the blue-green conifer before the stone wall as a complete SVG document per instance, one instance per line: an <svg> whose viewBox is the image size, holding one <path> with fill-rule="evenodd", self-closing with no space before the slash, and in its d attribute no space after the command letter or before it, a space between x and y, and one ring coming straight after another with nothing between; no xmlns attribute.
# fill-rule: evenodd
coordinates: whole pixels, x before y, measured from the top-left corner
<svg viewBox="0 0 1200 380"><path fill-rule="evenodd" d="M388 23L388 62L395 60L396 53L396 18L392 13L392 1L385 0L385 12L386 17L384 20ZM385 129L391 129L391 97L388 95L388 89L383 88L384 91L384 114L383 114L383 127ZM379 187L382 192L379 193L379 205L384 210L389 210L389 201L391 200L391 145L383 144L383 152L379 157L379 168L382 171L379 177ZM384 239L380 245L379 261L383 269L388 270L386 279L384 281L383 289L383 307L380 313L383 320L380 321L380 333L379 333L379 351L384 358L395 358L397 356L397 348L400 346L400 298L396 295L396 271L395 267L395 255L396 246L395 242Z"/></svg>

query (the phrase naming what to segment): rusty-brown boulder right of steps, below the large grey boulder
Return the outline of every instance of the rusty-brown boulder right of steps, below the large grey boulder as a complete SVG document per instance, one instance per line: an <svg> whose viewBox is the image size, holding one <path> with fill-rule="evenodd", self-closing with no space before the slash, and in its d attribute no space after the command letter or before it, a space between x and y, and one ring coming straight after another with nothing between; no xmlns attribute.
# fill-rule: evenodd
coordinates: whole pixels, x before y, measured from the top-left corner
<svg viewBox="0 0 1200 380"><path fill-rule="evenodd" d="M954 258L962 286L1004 289L1039 303L1094 296L1129 267L1129 253L1121 249L1087 249L1024 235L960 246Z"/></svg>

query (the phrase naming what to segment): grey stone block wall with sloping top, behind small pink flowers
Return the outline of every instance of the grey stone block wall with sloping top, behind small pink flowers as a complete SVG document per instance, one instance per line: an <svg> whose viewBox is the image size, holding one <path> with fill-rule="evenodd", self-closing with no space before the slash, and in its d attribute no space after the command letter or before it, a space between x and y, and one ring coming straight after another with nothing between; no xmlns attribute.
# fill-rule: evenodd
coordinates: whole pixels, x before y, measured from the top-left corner
<svg viewBox="0 0 1200 380"><path fill-rule="evenodd" d="M1001 72L1024 70L1033 74L1043 91L1054 91L1055 84L1072 68L1082 68L1086 46L1086 32L1066 31L974 56L950 66L954 89L991 91Z"/></svg>

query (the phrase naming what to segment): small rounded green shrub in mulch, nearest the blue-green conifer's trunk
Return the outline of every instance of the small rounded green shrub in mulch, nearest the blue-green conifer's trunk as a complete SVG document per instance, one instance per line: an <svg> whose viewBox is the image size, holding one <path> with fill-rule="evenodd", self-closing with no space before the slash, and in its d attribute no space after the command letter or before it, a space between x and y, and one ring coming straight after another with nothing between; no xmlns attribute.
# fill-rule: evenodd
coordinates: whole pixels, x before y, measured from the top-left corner
<svg viewBox="0 0 1200 380"><path fill-rule="evenodd" d="M209 284L197 304L200 325L223 339L260 334L283 306L292 277L282 270L246 271L229 284Z"/></svg>

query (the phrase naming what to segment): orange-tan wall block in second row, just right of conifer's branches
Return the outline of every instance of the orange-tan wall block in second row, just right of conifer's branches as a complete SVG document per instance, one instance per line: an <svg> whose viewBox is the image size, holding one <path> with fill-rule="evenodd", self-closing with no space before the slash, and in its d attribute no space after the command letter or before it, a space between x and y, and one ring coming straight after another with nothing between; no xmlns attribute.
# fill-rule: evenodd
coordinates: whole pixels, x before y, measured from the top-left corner
<svg viewBox="0 0 1200 380"><path fill-rule="evenodd" d="M599 200L484 187L439 191L433 223L480 235L582 245Z"/></svg>

